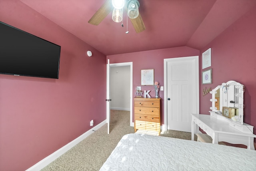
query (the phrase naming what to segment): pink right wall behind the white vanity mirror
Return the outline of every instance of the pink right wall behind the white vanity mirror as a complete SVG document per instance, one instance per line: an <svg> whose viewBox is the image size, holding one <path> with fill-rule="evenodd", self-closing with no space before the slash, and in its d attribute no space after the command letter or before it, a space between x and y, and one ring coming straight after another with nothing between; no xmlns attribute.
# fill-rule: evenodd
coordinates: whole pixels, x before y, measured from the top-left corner
<svg viewBox="0 0 256 171"><path fill-rule="evenodd" d="M200 54L212 48L212 84L201 84L204 87L217 85L234 80L245 85L244 122L254 126L256 133L256 7L237 20L222 32ZM202 57L200 57L202 59ZM200 60L200 73L202 61ZM208 68L206 68L208 69ZM204 70L206 70L204 69ZM200 79L202 80L202 78ZM209 114L211 94L202 96L200 93L200 113Z"/></svg>

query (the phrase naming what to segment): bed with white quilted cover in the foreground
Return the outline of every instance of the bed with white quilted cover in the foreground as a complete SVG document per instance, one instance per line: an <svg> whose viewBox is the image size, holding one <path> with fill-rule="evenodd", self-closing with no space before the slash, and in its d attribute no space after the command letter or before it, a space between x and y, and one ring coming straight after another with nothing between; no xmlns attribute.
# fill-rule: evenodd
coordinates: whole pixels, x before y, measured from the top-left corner
<svg viewBox="0 0 256 171"><path fill-rule="evenodd" d="M122 137L100 171L255 171L256 151L145 134Z"/></svg>

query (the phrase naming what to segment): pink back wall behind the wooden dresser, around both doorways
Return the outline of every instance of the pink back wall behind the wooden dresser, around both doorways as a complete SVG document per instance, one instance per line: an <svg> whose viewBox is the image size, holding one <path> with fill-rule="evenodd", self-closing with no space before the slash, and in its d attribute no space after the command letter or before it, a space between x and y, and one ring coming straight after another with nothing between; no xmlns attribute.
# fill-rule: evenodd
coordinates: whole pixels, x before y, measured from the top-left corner
<svg viewBox="0 0 256 171"><path fill-rule="evenodd" d="M164 59L177 58L185 56L199 56L199 50L188 48L186 46L178 48L167 48L160 50L150 50L143 52L134 52L128 54L118 54L107 56L110 59L110 64L133 62L133 85L132 94L135 97L135 89L137 86L141 86L140 73L142 69L154 69L154 80L158 81L160 86L164 86ZM141 86L142 91L151 90L150 96L154 97L153 86ZM164 123L164 91L159 91L159 97L161 97L161 125Z"/></svg>

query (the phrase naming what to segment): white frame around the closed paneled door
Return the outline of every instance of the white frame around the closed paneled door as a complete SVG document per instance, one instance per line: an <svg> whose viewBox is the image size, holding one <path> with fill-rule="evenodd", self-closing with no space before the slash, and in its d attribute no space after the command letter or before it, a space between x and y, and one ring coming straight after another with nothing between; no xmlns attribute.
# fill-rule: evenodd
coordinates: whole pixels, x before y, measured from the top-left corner
<svg viewBox="0 0 256 171"><path fill-rule="evenodd" d="M164 59L164 124L162 124L162 132L167 131L167 62L182 62L194 60L195 77L196 77L196 113L199 113L199 56L188 56L179 58Z"/></svg>

